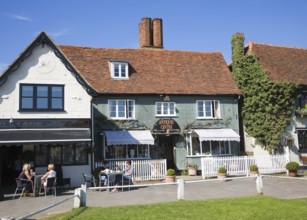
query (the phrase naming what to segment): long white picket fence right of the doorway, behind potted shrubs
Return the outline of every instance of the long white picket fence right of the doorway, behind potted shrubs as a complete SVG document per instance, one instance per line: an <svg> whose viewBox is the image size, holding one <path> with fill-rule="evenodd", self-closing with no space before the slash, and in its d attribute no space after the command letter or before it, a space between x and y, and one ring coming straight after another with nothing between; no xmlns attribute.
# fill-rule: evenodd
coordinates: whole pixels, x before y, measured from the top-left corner
<svg viewBox="0 0 307 220"><path fill-rule="evenodd" d="M287 154L263 156L229 156L229 157L203 157L201 158L202 178L216 176L219 167L227 169L227 175L249 175L249 167L256 164L260 174L286 172L289 162Z"/></svg>

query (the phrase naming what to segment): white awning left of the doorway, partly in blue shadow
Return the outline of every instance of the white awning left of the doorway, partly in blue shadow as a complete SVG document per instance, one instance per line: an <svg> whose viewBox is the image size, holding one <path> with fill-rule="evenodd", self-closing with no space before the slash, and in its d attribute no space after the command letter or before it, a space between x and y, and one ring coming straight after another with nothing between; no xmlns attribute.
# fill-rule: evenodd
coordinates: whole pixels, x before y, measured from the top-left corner
<svg viewBox="0 0 307 220"><path fill-rule="evenodd" d="M107 145L154 144L149 130L105 131Z"/></svg>

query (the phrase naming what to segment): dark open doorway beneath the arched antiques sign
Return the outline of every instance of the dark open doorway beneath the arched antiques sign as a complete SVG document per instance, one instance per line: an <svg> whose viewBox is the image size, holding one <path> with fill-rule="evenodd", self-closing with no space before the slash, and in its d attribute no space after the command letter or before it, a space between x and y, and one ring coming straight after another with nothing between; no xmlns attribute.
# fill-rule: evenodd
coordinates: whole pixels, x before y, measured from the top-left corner
<svg viewBox="0 0 307 220"><path fill-rule="evenodd" d="M174 146L175 146L175 136L158 136L159 152L160 158L165 158L167 161L167 169L175 169L174 161Z"/></svg>

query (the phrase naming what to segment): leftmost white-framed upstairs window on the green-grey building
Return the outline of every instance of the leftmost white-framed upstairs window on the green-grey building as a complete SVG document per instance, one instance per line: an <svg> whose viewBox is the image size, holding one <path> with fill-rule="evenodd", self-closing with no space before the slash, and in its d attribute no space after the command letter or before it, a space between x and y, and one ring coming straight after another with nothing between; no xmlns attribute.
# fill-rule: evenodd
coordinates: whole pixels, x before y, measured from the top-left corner
<svg viewBox="0 0 307 220"><path fill-rule="evenodd" d="M108 100L109 118L111 119L134 119L134 100Z"/></svg>

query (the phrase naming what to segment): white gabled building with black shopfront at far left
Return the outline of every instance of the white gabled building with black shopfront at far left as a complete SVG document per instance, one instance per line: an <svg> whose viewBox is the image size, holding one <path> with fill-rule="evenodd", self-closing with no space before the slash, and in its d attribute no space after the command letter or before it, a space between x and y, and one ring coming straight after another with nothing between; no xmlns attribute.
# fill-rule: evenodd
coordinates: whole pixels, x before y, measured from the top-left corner
<svg viewBox="0 0 307 220"><path fill-rule="evenodd" d="M14 180L21 157L36 172L62 167L71 185L82 183L92 158L91 100L95 91L42 32L0 77L2 183Z"/></svg>

